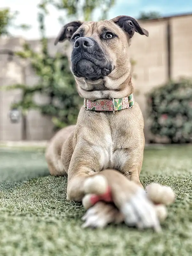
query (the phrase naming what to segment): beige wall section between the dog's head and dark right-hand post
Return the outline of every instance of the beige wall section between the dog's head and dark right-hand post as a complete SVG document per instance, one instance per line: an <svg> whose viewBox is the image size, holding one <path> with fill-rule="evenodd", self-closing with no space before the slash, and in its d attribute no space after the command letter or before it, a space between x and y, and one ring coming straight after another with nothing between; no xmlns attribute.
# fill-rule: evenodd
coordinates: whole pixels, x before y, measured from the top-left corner
<svg viewBox="0 0 192 256"><path fill-rule="evenodd" d="M134 35L130 47L131 57L136 61L133 73L135 100L139 103L145 120L145 138L148 140L146 97L154 86L167 81L167 22L164 20L145 22L142 26L149 31L149 37Z"/></svg>

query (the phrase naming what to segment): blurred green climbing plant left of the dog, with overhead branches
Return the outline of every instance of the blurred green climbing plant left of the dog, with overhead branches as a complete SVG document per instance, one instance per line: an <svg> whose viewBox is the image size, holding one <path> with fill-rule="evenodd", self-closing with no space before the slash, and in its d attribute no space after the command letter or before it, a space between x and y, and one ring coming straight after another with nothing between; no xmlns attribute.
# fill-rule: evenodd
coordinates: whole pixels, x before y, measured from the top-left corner
<svg viewBox="0 0 192 256"><path fill-rule="evenodd" d="M86 0L83 3L81 10L84 13L85 20L92 17L92 12L99 6L99 3L101 5L101 1L95 2L94 0ZM48 4L67 11L68 17L71 17L77 14L76 12L79 10L82 1L81 3L78 0L62 0L59 2L43 0L40 2L38 5L38 21L41 33L41 52L34 52L28 44L25 44L23 51L15 53L22 59L30 60L35 74L39 76L39 83L32 87L26 84L14 84L7 87L7 89L22 90L22 99L12 104L12 108L21 108L23 115L27 115L29 109L37 109L42 114L51 116L55 129L60 129L76 123L83 99L77 93L75 79L69 69L68 58L61 54L56 54L54 57L49 55L44 23L46 15L49 14ZM111 4L113 4L113 0L104 0L102 6L107 6L105 10L108 10ZM105 14L105 10L103 14ZM37 104L34 98L36 93L46 96L47 104Z"/></svg>

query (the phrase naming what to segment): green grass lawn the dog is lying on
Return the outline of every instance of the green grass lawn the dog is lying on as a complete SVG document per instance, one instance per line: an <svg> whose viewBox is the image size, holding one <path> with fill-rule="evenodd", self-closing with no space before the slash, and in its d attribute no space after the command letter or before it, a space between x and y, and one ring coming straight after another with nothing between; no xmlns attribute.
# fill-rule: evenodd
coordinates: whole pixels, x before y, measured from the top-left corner
<svg viewBox="0 0 192 256"><path fill-rule="evenodd" d="M192 255L192 147L147 148L140 178L177 194L162 234L82 229L84 209L66 201L67 179L49 176L42 151L0 149L0 255Z"/></svg>

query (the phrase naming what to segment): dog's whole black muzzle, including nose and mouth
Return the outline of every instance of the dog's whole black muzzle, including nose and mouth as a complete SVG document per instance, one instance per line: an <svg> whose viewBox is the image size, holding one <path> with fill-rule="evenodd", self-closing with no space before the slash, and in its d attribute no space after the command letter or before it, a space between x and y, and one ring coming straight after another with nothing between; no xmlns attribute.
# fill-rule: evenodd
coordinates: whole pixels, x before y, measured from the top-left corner
<svg viewBox="0 0 192 256"><path fill-rule="evenodd" d="M71 61L74 75L88 80L108 76L113 69L100 45L90 37L80 37L75 41Z"/></svg>

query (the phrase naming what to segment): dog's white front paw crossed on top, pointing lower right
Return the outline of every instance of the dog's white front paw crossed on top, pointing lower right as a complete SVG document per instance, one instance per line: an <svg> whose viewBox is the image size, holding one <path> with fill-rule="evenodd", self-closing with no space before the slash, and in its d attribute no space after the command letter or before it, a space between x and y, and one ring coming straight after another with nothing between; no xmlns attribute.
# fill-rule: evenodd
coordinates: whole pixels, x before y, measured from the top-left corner
<svg viewBox="0 0 192 256"><path fill-rule="evenodd" d="M122 204L120 211L129 227L154 228L156 232L161 231L156 209L141 188Z"/></svg>

